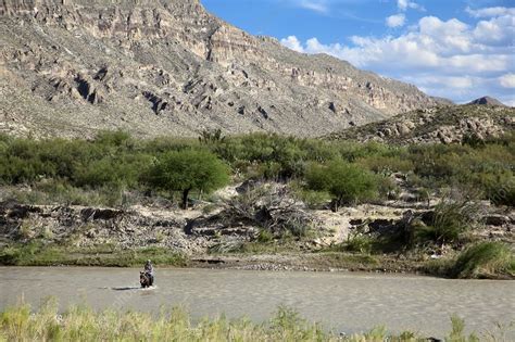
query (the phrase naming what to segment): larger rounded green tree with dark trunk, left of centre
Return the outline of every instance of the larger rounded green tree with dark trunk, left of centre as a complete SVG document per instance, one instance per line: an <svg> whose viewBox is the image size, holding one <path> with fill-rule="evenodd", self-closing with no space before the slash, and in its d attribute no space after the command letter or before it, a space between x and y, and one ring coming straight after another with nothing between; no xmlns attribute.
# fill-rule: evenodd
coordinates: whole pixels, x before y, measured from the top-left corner
<svg viewBox="0 0 515 342"><path fill-rule="evenodd" d="M188 208L191 190L211 192L227 185L227 166L214 154L202 150L165 153L150 169L149 183L165 191L180 191L183 208Z"/></svg>

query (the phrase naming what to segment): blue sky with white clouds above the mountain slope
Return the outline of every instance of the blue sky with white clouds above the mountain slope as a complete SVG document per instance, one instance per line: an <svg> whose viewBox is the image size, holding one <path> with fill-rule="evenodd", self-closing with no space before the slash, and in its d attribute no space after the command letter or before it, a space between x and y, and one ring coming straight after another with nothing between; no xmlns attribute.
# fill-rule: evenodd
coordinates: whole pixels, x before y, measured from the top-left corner
<svg viewBox="0 0 515 342"><path fill-rule="evenodd" d="M515 106L515 0L201 0L226 22L456 103Z"/></svg>

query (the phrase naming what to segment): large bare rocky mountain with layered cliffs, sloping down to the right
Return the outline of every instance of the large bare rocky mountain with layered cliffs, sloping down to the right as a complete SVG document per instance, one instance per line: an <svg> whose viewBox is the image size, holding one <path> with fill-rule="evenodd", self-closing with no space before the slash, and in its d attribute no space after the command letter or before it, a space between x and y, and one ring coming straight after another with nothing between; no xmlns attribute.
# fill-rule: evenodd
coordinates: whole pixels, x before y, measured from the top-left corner
<svg viewBox="0 0 515 342"><path fill-rule="evenodd" d="M0 2L0 132L321 136L436 101L254 37L198 0Z"/></svg>

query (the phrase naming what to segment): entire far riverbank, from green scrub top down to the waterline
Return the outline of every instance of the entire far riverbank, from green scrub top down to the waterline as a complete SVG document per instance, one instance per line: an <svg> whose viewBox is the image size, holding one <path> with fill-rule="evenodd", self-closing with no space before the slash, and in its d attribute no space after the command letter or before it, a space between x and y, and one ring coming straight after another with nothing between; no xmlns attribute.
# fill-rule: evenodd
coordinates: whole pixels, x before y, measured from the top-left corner
<svg viewBox="0 0 515 342"><path fill-rule="evenodd" d="M513 137L404 148L203 138L5 137L0 265L139 267L150 258L159 267L515 277ZM76 154L62 160L68 150ZM225 186L184 193L153 182L158 160L189 165L206 155L228 166L218 172Z"/></svg>

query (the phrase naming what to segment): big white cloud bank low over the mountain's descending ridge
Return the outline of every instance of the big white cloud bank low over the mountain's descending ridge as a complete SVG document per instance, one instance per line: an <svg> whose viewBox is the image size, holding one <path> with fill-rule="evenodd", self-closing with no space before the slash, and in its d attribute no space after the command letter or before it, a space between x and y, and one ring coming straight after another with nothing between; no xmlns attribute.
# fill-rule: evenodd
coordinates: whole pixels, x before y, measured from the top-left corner
<svg viewBox="0 0 515 342"><path fill-rule="evenodd" d="M470 24L425 16L395 36L354 36L349 43L291 36L281 42L304 53L334 55L456 102L485 94L508 102L515 101L514 23L515 14Z"/></svg>

